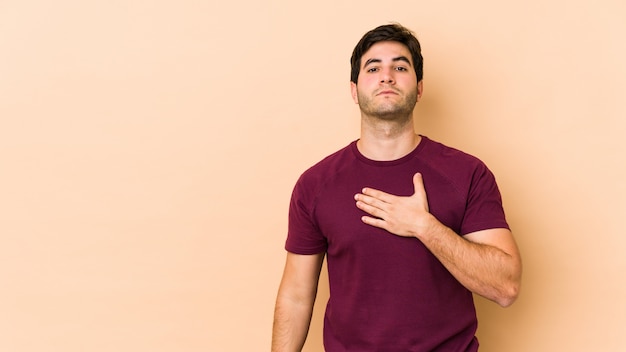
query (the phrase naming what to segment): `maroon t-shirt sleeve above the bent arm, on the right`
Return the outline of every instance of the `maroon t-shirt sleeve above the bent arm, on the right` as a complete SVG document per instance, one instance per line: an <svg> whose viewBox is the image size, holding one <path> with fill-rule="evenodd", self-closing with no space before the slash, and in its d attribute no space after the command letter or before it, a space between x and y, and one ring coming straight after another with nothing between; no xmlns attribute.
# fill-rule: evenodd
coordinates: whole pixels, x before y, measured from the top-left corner
<svg viewBox="0 0 626 352"><path fill-rule="evenodd" d="M493 173L479 163L472 175L461 235L495 228L509 229L502 196Z"/></svg>

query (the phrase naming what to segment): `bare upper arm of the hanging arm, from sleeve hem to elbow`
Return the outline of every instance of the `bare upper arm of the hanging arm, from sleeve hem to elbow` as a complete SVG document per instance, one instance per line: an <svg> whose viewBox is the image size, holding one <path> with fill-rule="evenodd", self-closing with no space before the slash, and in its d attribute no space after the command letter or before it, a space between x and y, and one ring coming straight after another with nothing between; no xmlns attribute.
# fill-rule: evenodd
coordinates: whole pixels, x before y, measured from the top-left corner
<svg viewBox="0 0 626 352"><path fill-rule="evenodd" d="M315 299L324 255L287 252L279 294L296 300Z"/></svg>

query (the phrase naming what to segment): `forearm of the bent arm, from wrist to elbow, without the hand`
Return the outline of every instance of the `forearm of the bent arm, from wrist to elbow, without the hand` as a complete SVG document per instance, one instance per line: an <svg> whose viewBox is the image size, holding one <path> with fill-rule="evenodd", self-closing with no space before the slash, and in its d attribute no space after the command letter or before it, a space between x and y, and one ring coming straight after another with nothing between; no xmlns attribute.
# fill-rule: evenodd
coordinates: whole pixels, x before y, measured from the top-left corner
<svg viewBox="0 0 626 352"><path fill-rule="evenodd" d="M517 298L521 262L516 248L510 250L515 253L507 253L490 244L470 241L438 221L416 237L468 290L503 307Z"/></svg>

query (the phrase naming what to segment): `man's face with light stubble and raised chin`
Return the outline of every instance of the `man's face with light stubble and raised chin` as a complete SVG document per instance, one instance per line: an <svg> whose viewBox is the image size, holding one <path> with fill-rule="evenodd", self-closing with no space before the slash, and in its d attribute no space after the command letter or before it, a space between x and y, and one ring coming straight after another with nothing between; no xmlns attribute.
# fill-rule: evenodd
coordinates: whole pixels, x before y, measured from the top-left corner
<svg viewBox="0 0 626 352"><path fill-rule="evenodd" d="M393 120L413 113L422 95L409 49L401 43L379 42L361 57L357 83L351 83L352 98L370 117Z"/></svg>

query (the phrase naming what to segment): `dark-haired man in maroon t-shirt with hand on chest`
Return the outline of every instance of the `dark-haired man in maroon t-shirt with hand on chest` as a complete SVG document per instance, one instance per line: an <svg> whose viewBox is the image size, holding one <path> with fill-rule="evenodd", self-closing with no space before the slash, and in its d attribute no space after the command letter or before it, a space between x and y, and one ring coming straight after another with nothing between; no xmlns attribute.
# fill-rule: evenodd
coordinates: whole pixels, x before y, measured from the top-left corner
<svg viewBox="0 0 626 352"><path fill-rule="evenodd" d="M506 307L521 281L494 176L415 133L423 60L411 31L371 30L351 63L360 139L295 185L272 351L302 349L325 255L327 351L477 351L472 293Z"/></svg>

